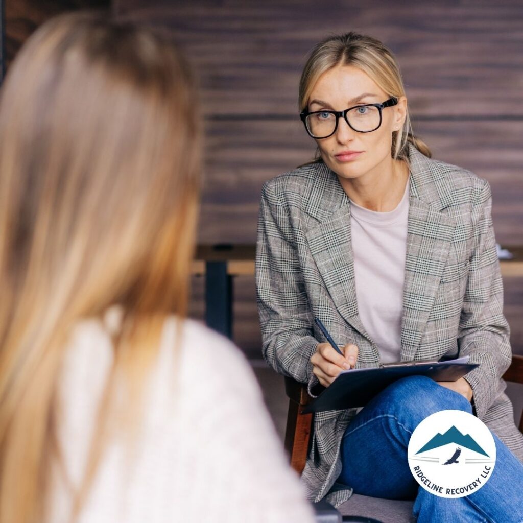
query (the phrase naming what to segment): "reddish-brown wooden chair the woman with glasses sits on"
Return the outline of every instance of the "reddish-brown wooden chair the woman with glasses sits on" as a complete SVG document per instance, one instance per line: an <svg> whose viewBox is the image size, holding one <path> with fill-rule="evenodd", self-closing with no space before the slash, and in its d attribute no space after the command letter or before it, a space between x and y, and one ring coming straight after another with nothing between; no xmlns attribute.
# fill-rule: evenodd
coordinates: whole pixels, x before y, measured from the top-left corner
<svg viewBox="0 0 523 523"><path fill-rule="evenodd" d="M503 375L503 379L523 384L523 356L513 355L512 363ZM313 429L312 414L301 414L301 410L312 401L312 398L307 392L306 385L294 381L292 378L285 378L285 391L289 397L285 448L289 453L291 467L298 474L301 474L309 453ZM519 422L519 430L523 433L523 414ZM383 501L387 503L406 503L395 502L389 499Z"/></svg>

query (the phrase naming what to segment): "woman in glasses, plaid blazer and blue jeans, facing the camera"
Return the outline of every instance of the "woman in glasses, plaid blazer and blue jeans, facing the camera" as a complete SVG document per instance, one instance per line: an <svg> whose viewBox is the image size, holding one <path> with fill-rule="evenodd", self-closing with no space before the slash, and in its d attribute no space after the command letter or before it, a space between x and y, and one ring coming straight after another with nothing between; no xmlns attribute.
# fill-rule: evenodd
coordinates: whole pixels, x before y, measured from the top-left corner
<svg viewBox="0 0 523 523"><path fill-rule="evenodd" d="M416 499L419 521L523 520L523 436L501 379L511 350L488 183L431 159L412 134L399 66L374 38L317 44L299 104L316 160L267 181L261 195L265 359L312 396L342 370L380 362L467 355L479 364L455 382L405 378L364 408L316 413L302 474L309 496ZM446 409L473 412L496 441L493 476L464 498L418 488L408 468L410 434Z"/></svg>

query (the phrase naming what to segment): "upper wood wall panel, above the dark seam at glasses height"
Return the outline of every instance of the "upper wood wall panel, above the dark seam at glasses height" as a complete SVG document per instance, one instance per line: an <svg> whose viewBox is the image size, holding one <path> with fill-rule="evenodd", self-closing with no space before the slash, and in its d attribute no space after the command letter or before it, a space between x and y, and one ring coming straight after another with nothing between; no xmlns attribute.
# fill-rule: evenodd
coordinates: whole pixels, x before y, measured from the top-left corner
<svg viewBox="0 0 523 523"><path fill-rule="evenodd" d="M295 115L305 56L355 30L397 56L416 116L497 118L521 108L523 4L389 0L114 0L168 26L197 67L207 115Z"/></svg>

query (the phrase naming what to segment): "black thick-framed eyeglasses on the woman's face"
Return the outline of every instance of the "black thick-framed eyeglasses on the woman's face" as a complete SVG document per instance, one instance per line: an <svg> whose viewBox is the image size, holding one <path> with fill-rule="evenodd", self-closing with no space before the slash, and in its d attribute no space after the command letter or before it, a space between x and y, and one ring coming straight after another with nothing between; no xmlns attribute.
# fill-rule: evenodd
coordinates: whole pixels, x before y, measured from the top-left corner
<svg viewBox="0 0 523 523"><path fill-rule="evenodd" d="M372 132L381 126L381 111L397 104L397 98L389 98L381 104L365 104L349 107L344 111L313 111L304 109L300 118L312 138L322 139L332 136L338 129L338 121L344 118L356 132Z"/></svg>

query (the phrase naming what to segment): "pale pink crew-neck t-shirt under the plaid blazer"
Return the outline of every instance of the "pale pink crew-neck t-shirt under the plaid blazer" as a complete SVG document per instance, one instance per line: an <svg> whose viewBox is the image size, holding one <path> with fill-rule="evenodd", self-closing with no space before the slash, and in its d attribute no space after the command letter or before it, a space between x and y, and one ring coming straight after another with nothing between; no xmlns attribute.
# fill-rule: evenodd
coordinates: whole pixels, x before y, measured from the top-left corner
<svg viewBox="0 0 523 523"><path fill-rule="evenodd" d="M380 361L399 361L408 222L405 193L390 212L350 202L358 311L380 352Z"/></svg>

